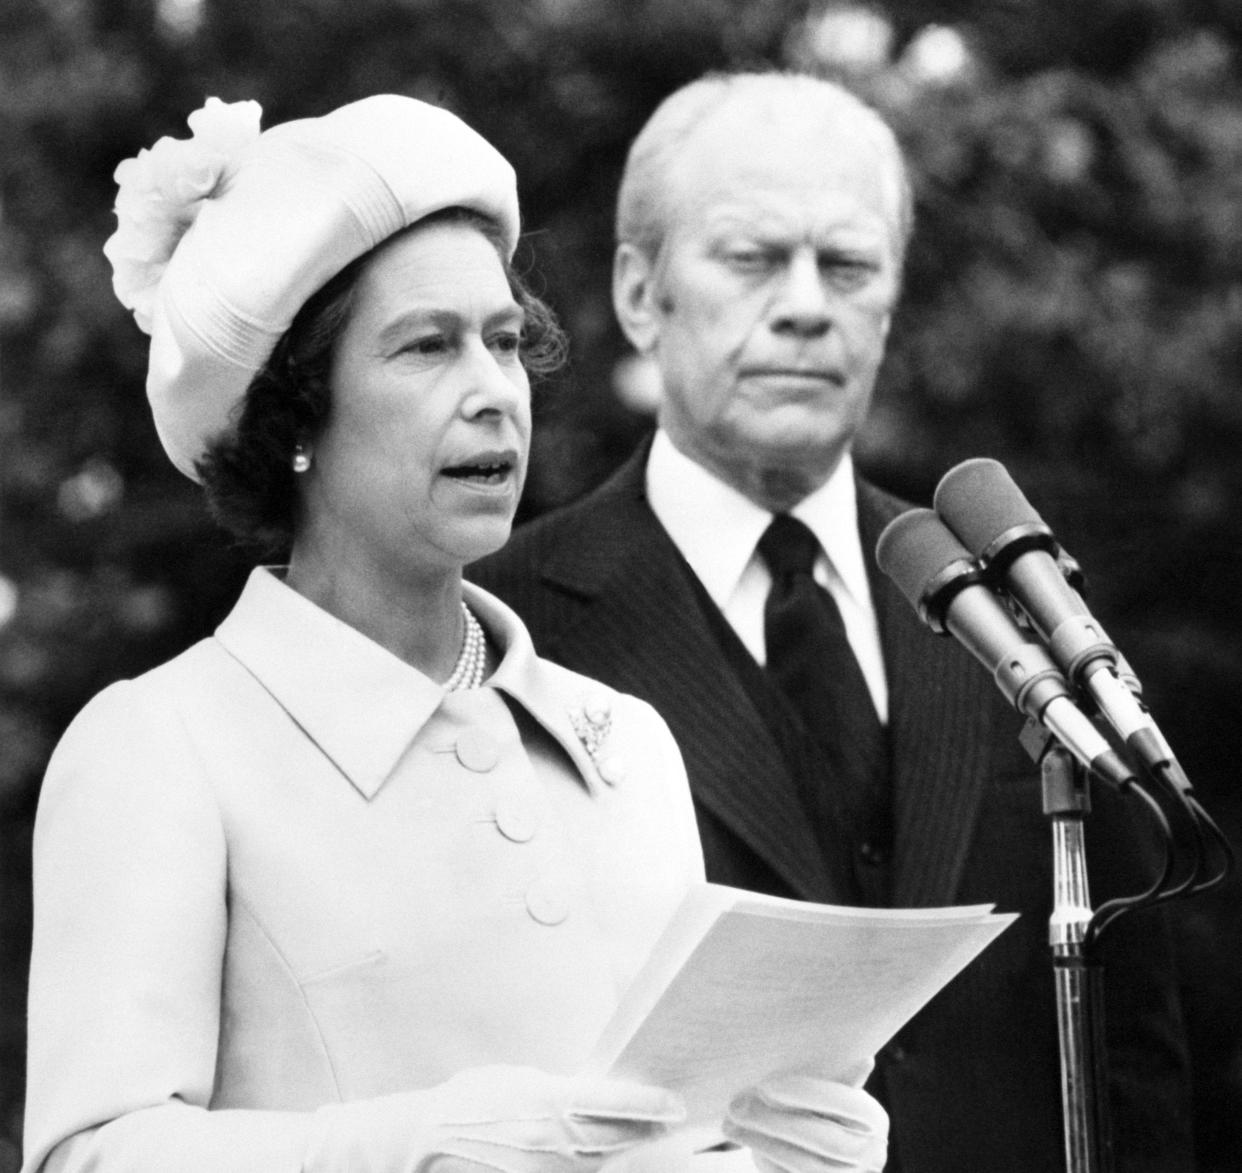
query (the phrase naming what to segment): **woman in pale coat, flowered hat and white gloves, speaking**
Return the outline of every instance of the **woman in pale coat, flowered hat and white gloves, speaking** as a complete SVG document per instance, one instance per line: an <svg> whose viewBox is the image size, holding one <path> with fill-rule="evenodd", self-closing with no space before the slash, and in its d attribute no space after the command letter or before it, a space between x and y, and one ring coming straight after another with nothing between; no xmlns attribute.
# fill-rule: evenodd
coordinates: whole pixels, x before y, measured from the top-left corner
<svg viewBox="0 0 1242 1173"><path fill-rule="evenodd" d="M281 565L50 764L25 1169L673 1168L674 1096L575 1072L702 877L681 759L462 582L561 342L512 169L411 98L258 113L209 102L117 174L160 439ZM825 1080L727 1127L748 1164L883 1163Z"/></svg>

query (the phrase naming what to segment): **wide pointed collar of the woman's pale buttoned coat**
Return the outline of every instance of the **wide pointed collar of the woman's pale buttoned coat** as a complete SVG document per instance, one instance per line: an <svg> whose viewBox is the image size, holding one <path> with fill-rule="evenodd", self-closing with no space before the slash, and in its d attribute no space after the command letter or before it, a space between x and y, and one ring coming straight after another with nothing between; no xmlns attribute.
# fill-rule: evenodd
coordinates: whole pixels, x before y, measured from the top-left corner
<svg viewBox="0 0 1242 1173"><path fill-rule="evenodd" d="M587 787L597 773L564 698L540 672L522 621L469 583L465 598L501 650L488 686L502 688L565 748ZM349 782L374 796L446 692L349 624L257 568L216 639ZM545 667L545 666L544 666Z"/></svg>

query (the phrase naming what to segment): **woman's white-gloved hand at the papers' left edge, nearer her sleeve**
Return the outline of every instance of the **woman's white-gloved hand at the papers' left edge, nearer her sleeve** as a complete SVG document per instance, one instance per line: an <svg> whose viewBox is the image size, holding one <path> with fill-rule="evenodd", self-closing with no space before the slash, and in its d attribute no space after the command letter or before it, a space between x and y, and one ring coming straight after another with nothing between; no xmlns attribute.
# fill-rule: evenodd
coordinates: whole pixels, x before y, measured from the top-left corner
<svg viewBox="0 0 1242 1173"><path fill-rule="evenodd" d="M420 1173L595 1173L686 1116L660 1087L534 1067L471 1067L435 1091L438 1125Z"/></svg>

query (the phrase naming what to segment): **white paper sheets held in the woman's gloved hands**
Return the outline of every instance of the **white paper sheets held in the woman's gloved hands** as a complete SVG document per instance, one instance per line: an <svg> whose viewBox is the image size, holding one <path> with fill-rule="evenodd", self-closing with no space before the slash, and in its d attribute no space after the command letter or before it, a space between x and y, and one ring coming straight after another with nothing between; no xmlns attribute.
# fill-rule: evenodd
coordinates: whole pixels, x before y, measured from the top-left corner
<svg viewBox="0 0 1242 1173"><path fill-rule="evenodd" d="M867 1060L1013 920L987 905L838 908L697 885L589 1071L669 1087L688 1127L715 1134L765 1075Z"/></svg>

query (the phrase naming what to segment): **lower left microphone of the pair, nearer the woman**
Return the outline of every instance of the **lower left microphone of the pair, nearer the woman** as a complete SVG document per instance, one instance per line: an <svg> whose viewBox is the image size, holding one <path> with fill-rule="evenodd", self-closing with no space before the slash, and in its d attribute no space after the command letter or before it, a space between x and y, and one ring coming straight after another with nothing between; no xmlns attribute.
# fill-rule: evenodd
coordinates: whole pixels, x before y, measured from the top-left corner
<svg viewBox="0 0 1242 1173"><path fill-rule="evenodd" d="M876 560L933 631L953 635L991 673L1006 700L1048 729L1118 789L1134 772L1069 700L1064 676L985 586L970 552L932 509L909 509L884 527Z"/></svg>

